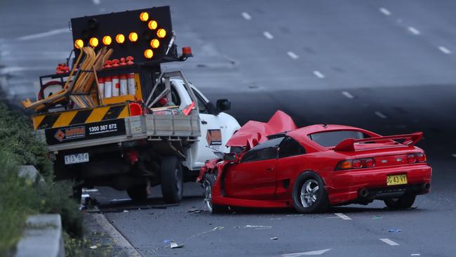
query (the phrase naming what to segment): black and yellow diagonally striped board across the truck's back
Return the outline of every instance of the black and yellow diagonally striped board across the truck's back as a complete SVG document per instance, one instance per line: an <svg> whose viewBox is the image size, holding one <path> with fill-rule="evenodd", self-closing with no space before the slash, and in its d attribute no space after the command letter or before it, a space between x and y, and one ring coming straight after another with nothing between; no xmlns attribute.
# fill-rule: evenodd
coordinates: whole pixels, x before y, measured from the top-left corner
<svg viewBox="0 0 456 257"><path fill-rule="evenodd" d="M62 126L105 121L107 119L121 119L130 116L127 104L109 105L90 109L53 112L34 116L34 129L51 129Z"/></svg>

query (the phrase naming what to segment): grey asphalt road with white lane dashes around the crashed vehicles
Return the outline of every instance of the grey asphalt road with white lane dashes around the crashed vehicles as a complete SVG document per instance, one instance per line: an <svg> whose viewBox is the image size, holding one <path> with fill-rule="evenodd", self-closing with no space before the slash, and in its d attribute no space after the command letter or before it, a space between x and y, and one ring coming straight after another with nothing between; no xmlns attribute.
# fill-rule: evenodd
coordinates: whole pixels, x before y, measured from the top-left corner
<svg viewBox="0 0 456 257"><path fill-rule="evenodd" d="M385 135L424 131L419 146L434 177L431 194L419 197L416 209L386 211L377 202L305 216L187 213L203 208L193 183L181 206L144 209L160 204L153 198L128 213L112 212L133 208L128 200L112 201L125 199L123 192L94 192L108 220L140 253L456 255L455 1L1 1L2 89L15 103L33 97L39 74L52 73L72 47L69 18L162 5L171 6L177 44L192 46L195 55L168 69L184 70L211 100L232 100L230 113L241 124L283 110L299 126L347 124ZM159 191L154 188L154 197ZM166 239L186 245L168 249Z"/></svg>

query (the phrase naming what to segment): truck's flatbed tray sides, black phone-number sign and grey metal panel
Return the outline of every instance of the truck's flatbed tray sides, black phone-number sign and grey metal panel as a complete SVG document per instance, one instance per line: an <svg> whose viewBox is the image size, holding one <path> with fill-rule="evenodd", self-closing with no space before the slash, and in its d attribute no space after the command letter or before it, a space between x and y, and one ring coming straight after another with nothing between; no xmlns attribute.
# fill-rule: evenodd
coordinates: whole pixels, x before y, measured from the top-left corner
<svg viewBox="0 0 456 257"><path fill-rule="evenodd" d="M134 140L188 140L201 136L199 116L145 114L86 124L39 129L37 136L50 152Z"/></svg>

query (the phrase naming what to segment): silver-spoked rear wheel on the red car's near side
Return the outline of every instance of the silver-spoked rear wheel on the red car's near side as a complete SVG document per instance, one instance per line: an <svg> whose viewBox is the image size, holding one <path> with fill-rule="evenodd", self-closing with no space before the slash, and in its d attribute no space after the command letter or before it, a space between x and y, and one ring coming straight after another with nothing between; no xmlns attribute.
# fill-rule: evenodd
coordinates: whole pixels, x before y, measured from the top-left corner
<svg viewBox="0 0 456 257"><path fill-rule="evenodd" d="M328 195L323 179L317 173L306 171L293 185L293 206L300 213L313 213L328 208Z"/></svg>

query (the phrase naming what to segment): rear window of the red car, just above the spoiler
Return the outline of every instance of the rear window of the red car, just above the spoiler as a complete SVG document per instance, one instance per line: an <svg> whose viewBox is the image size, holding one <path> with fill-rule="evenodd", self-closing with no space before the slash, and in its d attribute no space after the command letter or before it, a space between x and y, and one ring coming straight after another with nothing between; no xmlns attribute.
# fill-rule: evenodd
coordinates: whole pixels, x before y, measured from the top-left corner
<svg viewBox="0 0 456 257"><path fill-rule="evenodd" d="M318 145L322 145L324 147L335 146L340 143L342 140L347 138L354 138L354 139L361 139L361 138L369 138L368 135L364 134L360 131L326 131L326 132L319 132L313 133L309 135L309 138L318 143Z"/></svg>

